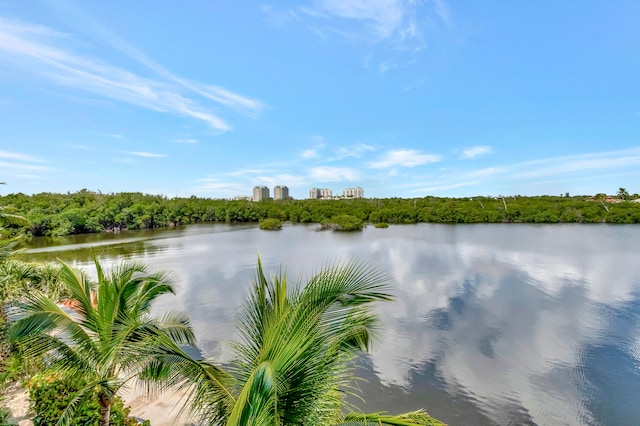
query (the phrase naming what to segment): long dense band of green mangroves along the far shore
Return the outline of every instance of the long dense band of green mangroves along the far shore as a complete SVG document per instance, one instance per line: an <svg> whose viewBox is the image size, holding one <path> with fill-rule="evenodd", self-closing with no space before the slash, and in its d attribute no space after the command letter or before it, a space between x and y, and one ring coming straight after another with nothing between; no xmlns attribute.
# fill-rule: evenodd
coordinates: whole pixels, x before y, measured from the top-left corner
<svg viewBox="0 0 640 426"><path fill-rule="evenodd" d="M621 188L624 189L624 188ZM258 222L277 219L326 223L340 215L363 222L434 223L640 223L640 203L624 191L613 200L589 196L472 197L230 201L167 198L141 193L75 193L0 197L6 214L29 219L22 228L39 235L113 232L202 222ZM612 202L620 201L620 202Z"/></svg>

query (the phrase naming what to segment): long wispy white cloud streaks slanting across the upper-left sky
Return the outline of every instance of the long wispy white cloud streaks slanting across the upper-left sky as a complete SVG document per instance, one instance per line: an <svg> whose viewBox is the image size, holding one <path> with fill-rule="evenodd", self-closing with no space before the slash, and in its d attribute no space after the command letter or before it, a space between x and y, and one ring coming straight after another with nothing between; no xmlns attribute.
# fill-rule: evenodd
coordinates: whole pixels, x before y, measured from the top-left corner
<svg viewBox="0 0 640 426"><path fill-rule="evenodd" d="M264 107L260 101L229 90L182 79L122 40L105 34L112 46L147 66L162 79L142 77L75 53L64 47L69 44L68 36L49 28L5 19L0 19L0 66L106 99L191 117L219 131L230 130L231 126L182 92L252 114Z"/></svg>

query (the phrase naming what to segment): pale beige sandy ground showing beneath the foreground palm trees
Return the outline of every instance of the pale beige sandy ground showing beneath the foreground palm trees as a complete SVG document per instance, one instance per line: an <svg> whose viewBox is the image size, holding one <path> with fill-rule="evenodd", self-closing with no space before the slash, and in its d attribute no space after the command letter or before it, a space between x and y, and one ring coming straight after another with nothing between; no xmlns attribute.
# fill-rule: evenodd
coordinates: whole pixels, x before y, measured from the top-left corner
<svg viewBox="0 0 640 426"><path fill-rule="evenodd" d="M184 405L184 391L167 391L158 395L142 395L140 392L123 392L125 405L131 407L130 415L140 420L149 420L152 426L193 425L185 414L180 413ZM32 426L29 413L29 394L17 383L4 392L2 405L9 409L11 418L19 426Z"/></svg>

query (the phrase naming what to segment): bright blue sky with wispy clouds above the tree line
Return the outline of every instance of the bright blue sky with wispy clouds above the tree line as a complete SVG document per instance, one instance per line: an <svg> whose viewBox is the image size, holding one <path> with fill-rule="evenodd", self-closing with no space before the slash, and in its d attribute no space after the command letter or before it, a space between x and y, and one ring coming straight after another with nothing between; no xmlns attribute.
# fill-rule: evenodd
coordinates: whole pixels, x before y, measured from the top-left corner
<svg viewBox="0 0 640 426"><path fill-rule="evenodd" d="M0 191L640 192L638 22L635 0L0 0Z"/></svg>

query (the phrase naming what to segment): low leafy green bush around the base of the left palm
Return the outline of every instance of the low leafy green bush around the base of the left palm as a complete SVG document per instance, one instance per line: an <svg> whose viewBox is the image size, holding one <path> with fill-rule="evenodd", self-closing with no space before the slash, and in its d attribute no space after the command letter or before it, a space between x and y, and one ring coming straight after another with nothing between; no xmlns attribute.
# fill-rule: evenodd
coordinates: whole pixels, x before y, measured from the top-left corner
<svg viewBox="0 0 640 426"><path fill-rule="evenodd" d="M48 371L36 374L27 383L29 399L33 403L35 426L54 425L60 420L64 410L69 406L86 383L77 376L65 376L61 372ZM135 418L129 417L130 409L124 406L122 399L115 397L109 416L114 426L140 425ZM74 425L96 425L100 420L100 404L98 395L78 403L74 409L70 423ZM145 423L148 425L149 423Z"/></svg>

